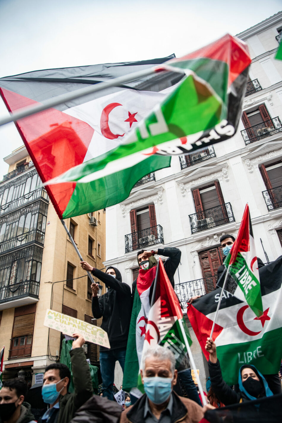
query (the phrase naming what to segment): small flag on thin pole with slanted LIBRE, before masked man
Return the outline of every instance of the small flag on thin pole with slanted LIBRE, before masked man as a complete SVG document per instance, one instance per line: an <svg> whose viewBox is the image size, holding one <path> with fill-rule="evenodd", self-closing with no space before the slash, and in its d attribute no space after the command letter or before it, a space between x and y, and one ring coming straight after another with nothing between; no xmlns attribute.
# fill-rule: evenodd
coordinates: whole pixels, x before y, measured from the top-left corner
<svg viewBox="0 0 282 423"><path fill-rule="evenodd" d="M248 204L246 204L244 210L238 236L223 264L228 270L226 291L246 301L253 312L258 317L261 316L263 304L260 292L260 276ZM225 275L224 273L220 278L217 283L218 286L222 286Z"/></svg>

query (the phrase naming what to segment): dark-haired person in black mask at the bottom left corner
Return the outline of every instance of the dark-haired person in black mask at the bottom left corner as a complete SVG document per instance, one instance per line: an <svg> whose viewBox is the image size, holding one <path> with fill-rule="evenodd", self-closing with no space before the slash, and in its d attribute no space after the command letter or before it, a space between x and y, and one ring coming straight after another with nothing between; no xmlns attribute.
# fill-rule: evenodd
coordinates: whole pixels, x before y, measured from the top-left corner
<svg viewBox="0 0 282 423"><path fill-rule="evenodd" d="M20 378L3 382L0 390L0 421L7 423L35 423L30 404L24 402L27 383Z"/></svg>

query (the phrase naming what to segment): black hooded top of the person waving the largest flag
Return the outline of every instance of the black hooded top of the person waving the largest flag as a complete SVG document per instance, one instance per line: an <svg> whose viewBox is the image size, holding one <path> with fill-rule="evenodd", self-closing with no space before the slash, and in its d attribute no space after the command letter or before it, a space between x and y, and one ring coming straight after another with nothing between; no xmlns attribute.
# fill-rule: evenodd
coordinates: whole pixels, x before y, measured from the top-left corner
<svg viewBox="0 0 282 423"><path fill-rule="evenodd" d="M126 349L132 310L131 291L127 283L122 283L119 270L112 269L116 278L98 269L92 270L92 274L109 287L100 298L92 297L92 313L95 319L103 317L101 328L108 334L111 350ZM100 346L100 351L108 351L108 348Z"/></svg>

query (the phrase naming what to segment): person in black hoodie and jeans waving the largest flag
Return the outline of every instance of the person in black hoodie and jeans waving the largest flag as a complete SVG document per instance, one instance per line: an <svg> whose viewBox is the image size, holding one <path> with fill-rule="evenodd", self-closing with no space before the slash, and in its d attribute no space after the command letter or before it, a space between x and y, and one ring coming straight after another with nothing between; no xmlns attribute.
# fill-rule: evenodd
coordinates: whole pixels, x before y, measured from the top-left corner
<svg viewBox="0 0 282 423"><path fill-rule="evenodd" d="M103 396L114 399L114 368L119 361L122 371L125 367L125 352L131 317L131 291L122 283L122 275L116 267L108 267L106 273L92 267L87 261L81 267L105 283L106 294L97 297L99 285L92 283L92 314L95 319L103 317L101 328L108 333L111 348L100 346L100 370L103 382Z"/></svg>

